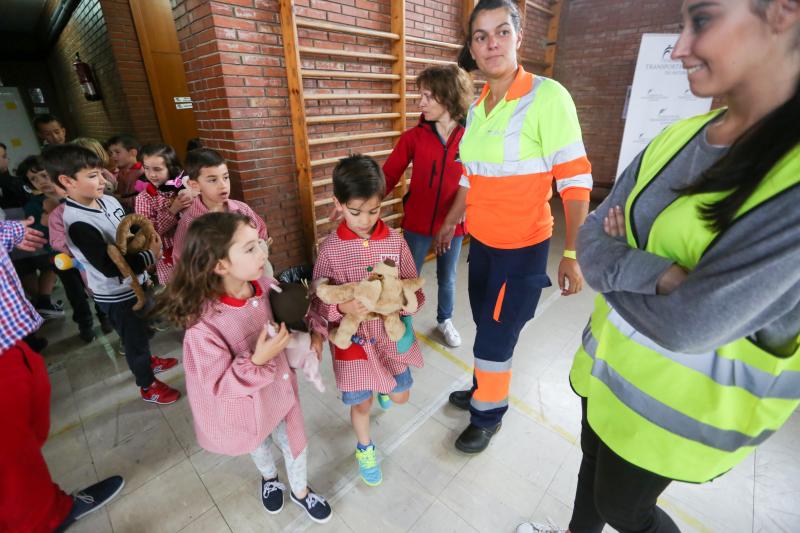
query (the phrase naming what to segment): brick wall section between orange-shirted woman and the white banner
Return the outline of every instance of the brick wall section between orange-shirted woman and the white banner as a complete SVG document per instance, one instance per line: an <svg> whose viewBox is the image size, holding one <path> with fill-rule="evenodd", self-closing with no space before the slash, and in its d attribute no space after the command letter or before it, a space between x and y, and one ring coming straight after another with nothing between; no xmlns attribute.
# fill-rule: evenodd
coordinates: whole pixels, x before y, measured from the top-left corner
<svg viewBox="0 0 800 533"><path fill-rule="evenodd" d="M575 99L596 196L616 177L641 34L677 33L680 8L681 0L565 1L554 77Z"/></svg>

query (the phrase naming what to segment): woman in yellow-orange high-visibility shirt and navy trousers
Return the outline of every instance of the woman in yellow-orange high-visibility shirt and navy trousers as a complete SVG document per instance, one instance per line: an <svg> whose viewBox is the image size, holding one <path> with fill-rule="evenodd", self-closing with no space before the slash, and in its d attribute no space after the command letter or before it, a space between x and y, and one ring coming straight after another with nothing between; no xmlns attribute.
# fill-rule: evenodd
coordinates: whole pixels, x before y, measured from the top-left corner
<svg viewBox="0 0 800 533"><path fill-rule="evenodd" d="M464 453L483 451L500 429L517 339L550 286L554 180L567 221L558 283L565 295L583 283L574 250L589 208L591 165L572 98L558 82L525 72L517 61L521 44L516 2L482 0L459 56L465 70L479 69L487 80L459 147L464 176L456 205L462 208L452 209L444 223L454 228L465 206L475 370L472 388L450 395L453 405L470 411L470 424L455 443Z"/></svg>

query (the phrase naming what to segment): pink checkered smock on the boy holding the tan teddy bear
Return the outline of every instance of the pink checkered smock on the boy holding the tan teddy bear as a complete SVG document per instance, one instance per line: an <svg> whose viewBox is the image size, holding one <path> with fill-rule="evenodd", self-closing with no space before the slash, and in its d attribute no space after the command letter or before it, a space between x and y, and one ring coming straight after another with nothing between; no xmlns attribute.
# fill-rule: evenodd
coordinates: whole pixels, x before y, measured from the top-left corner
<svg viewBox="0 0 800 533"><path fill-rule="evenodd" d="M405 239L383 221L378 222L369 240L353 233L342 222L319 248L319 256L314 265L314 280L328 278L333 285L362 281L373 267L385 259L397 263L401 279L417 277L414 258ZM425 295L417 291L419 307L425 302ZM342 314L336 305L328 305L317 297L311 300L309 322L320 333L338 324ZM321 324L327 322L327 328ZM365 339L363 345L353 343L346 350L331 343L333 353L333 372L336 387L340 391L371 390L388 393L395 388L394 376L402 374L409 366L422 367L422 350L415 339L405 353L398 353L397 343L386 334L381 319L367 320L358 327L356 335Z"/></svg>

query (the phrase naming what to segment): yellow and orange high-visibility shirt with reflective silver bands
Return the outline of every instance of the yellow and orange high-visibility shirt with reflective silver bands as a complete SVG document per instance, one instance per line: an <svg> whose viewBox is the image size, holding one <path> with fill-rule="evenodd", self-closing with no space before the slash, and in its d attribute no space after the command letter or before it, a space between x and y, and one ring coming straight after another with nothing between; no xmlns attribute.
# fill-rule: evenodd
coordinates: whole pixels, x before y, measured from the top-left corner
<svg viewBox="0 0 800 533"><path fill-rule="evenodd" d="M589 200L592 166L575 104L557 81L517 69L492 111L489 84L470 106L459 145L470 234L493 248L533 246L553 233L553 181L563 201Z"/></svg>

